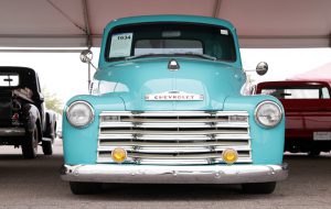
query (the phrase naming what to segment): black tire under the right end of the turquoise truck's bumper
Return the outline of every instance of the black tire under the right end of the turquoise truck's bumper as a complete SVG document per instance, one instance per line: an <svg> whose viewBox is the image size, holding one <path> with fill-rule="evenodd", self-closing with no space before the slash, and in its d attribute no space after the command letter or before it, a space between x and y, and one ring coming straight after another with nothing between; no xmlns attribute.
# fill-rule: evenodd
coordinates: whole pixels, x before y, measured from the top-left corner
<svg viewBox="0 0 331 209"><path fill-rule="evenodd" d="M271 194L276 188L276 182L243 184L242 188L245 194Z"/></svg>

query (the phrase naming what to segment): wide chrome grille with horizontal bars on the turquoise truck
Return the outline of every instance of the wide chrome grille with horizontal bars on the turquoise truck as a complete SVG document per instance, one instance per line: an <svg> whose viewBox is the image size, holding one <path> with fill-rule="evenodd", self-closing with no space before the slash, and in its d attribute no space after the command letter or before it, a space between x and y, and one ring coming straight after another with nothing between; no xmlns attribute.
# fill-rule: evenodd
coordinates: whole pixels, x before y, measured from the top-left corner
<svg viewBox="0 0 331 209"><path fill-rule="evenodd" d="M238 152L237 163L252 163L245 111L106 111L99 117L97 163L114 163L116 147L135 164L220 164L225 148Z"/></svg>

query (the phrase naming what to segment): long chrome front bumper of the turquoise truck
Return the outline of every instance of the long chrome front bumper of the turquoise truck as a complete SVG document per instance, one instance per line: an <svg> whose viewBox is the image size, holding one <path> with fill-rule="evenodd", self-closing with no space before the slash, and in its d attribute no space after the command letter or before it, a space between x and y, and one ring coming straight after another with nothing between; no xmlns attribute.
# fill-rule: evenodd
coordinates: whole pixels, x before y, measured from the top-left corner
<svg viewBox="0 0 331 209"><path fill-rule="evenodd" d="M241 184L284 180L284 165L64 165L63 180L145 184Z"/></svg>

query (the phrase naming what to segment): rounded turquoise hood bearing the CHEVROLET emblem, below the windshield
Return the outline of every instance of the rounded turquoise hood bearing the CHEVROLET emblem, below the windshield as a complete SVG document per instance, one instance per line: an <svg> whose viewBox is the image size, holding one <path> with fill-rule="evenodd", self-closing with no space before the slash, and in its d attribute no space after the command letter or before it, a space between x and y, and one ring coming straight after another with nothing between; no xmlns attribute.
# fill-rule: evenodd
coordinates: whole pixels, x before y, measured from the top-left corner
<svg viewBox="0 0 331 209"><path fill-rule="evenodd" d="M225 98L239 95L246 81L243 70L227 63L179 57L179 70L169 70L170 59L111 64L95 78L115 84L127 110L222 110Z"/></svg>

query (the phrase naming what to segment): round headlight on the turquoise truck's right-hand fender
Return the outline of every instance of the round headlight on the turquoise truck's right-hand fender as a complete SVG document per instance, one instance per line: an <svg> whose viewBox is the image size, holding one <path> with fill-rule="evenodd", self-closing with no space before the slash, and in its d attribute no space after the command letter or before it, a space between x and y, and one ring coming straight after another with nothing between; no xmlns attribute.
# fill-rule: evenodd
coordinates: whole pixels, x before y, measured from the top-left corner
<svg viewBox="0 0 331 209"><path fill-rule="evenodd" d="M281 108L274 101L263 101L255 110L255 120L263 127L276 127L281 118Z"/></svg>

